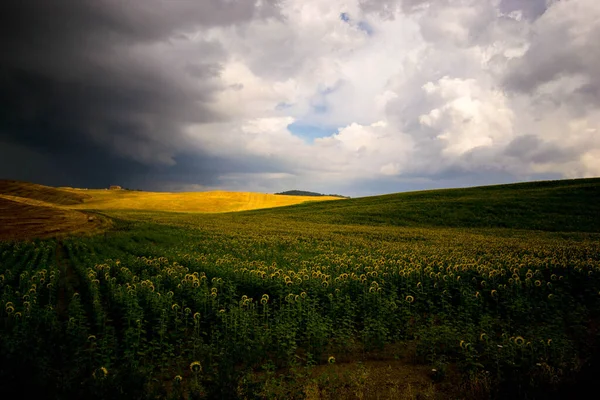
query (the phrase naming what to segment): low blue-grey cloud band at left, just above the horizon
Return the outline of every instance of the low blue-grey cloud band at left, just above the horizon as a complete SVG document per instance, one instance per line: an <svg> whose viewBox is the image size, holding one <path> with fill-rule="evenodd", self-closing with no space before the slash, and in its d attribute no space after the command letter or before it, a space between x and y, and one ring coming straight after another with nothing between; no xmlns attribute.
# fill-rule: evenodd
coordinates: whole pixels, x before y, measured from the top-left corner
<svg viewBox="0 0 600 400"><path fill-rule="evenodd" d="M260 157L226 158L204 152L183 152L173 165L144 164L102 152L92 144L47 151L0 141L0 179L17 179L51 186L181 190L188 186L215 187L221 176L279 172L279 165Z"/></svg>

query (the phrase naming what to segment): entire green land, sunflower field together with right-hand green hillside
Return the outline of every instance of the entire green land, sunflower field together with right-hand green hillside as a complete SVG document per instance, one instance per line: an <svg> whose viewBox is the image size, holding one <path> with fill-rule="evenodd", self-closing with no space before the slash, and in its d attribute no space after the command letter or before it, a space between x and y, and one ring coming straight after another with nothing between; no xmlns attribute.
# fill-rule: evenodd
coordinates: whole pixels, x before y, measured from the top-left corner
<svg viewBox="0 0 600 400"><path fill-rule="evenodd" d="M580 398L595 378L600 179L97 212L102 234L0 242L3 390Z"/></svg>

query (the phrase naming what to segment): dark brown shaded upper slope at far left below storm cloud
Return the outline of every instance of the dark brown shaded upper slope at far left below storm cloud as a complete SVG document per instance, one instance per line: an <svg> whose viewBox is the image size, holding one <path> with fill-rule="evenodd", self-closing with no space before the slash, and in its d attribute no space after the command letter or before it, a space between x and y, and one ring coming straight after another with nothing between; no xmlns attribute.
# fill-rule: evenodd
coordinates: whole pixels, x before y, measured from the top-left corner
<svg viewBox="0 0 600 400"><path fill-rule="evenodd" d="M12 180L0 180L0 194L28 198L57 205L81 204L85 199L89 198L89 196L83 193Z"/></svg>

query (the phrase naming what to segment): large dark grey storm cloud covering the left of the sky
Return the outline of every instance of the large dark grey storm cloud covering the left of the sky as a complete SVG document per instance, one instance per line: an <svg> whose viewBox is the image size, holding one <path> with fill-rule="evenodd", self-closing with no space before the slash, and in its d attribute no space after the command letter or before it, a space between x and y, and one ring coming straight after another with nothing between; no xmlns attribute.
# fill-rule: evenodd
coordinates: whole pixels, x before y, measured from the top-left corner
<svg viewBox="0 0 600 400"><path fill-rule="evenodd" d="M225 50L188 34L276 15L274 1L262 4L2 2L0 143L27 154L21 175L53 184L104 185L172 165L188 147L186 124L223 119L209 104L222 89ZM15 175L17 161L2 157L0 175Z"/></svg>

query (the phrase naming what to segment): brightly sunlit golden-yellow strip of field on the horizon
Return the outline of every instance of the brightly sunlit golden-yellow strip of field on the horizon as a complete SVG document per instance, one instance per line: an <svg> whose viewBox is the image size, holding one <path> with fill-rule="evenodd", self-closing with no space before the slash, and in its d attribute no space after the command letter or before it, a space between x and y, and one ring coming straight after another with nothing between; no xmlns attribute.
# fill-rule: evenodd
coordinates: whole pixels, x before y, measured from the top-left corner
<svg viewBox="0 0 600 400"><path fill-rule="evenodd" d="M83 203L70 205L70 209L93 210L222 213L289 206L306 201L339 200L338 197L330 196L283 196L252 192L162 193L129 190L67 190L88 195Z"/></svg>

